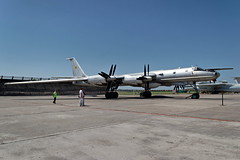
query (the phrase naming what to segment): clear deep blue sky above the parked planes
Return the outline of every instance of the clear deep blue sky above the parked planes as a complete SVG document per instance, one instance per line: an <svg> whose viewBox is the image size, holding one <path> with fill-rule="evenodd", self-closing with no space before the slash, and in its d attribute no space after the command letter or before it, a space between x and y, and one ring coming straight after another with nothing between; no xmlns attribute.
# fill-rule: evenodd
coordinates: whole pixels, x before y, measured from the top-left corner
<svg viewBox="0 0 240 160"><path fill-rule="evenodd" d="M239 0L0 0L0 75L199 66L240 76Z"/></svg>

